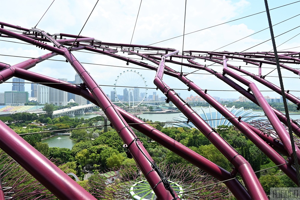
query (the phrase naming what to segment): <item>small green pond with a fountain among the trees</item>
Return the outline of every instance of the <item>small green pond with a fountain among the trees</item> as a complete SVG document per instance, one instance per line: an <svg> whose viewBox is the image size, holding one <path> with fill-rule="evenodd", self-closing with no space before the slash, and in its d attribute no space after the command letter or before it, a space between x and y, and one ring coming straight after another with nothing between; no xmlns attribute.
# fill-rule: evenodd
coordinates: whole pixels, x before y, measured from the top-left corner
<svg viewBox="0 0 300 200"><path fill-rule="evenodd" d="M53 136L42 140L43 143L48 143L49 147L69 148L72 149L76 142L70 139L70 136Z"/></svg>

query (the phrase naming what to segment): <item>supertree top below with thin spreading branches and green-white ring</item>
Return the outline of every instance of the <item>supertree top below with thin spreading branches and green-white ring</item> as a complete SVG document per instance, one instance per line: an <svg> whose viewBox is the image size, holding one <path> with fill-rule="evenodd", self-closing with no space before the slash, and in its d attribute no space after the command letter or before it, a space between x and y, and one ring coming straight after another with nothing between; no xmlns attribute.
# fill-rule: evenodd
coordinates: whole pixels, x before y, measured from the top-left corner
<svg viewBox="0 0 300 200"><path fill-rule="evenodd" d="M182 199L231 199L231 193L223 183L199 170L196 166L160 165L171 187ZM113 183L113 184L112 184ZM99 188L103 190L99 190ZM107 199L156 199L155 193L137 166L113 169L109 173L92 176L86 190L96 197Z"/></svg>

